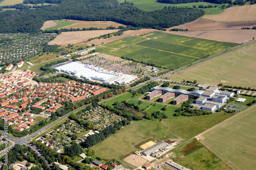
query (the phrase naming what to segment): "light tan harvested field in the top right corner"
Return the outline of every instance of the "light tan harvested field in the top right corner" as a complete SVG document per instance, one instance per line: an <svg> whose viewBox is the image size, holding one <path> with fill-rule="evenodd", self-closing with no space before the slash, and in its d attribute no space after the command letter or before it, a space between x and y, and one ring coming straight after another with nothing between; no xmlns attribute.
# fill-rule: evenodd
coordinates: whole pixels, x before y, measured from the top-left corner
<svg viewBox="0 0 256 170"><path fill-rule="evenodd" d="M225 9L218 15L205 15L202 18L219 22L256 21L256 4Z"/></svg>

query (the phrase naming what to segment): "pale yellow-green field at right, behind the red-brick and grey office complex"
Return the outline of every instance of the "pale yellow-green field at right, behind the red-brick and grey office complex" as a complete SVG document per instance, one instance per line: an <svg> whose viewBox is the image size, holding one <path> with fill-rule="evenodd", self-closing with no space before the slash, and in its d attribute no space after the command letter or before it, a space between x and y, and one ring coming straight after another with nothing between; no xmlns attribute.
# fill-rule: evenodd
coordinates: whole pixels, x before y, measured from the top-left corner
<svg viewBox="0 0 256 170"><path fill-rule="evenodd" d="M191 66L169 77L172 81L197 80L199 84L256 88L256 44L251 44Z"/></svg>

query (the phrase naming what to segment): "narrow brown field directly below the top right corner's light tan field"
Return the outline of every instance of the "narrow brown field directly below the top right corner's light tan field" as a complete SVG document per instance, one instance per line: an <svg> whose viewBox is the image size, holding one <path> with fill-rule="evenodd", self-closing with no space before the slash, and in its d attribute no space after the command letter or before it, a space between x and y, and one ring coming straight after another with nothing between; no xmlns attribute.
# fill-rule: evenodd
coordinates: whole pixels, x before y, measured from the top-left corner
<svg viewBox="0 0 256 170"><path fill-rule="evenodd" d="M191 22L184 23L183 25L175 26L166 29L178 28L188 29L188 31L204 31L204 30L240 30L242 27L254 27L256 22L212 22L208 20L197 19Z"/></svg>

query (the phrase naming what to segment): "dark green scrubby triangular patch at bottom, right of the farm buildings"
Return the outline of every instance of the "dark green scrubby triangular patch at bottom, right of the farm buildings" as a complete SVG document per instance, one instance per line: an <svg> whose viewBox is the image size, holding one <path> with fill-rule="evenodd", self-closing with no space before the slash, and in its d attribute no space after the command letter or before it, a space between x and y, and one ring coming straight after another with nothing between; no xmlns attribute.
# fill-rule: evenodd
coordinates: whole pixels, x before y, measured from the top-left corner
<svg viewBox="0 0 256 170"><path fill-rule="evenodd" d="M212 154L196 139L190 140L172 150L175 162L190 169L230 169L221 159ZM189 153L188 153L189 152ZM182 155L185 157L181 158Z"/></svg>

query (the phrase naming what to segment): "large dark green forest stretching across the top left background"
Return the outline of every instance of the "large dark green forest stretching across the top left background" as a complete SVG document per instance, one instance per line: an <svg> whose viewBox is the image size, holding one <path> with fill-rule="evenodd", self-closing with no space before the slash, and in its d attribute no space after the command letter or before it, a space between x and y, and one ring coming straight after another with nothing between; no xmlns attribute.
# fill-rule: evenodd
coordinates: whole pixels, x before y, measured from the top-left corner
<svg viewBox="0 0 256 170"><path fill-rule="evenodd" d="M21 8L24 5L19 6ZM163 29L193 21L203 14L203 10L176 7L146 12L133 4L119 5L117 0L63 0L57 5L43 6L35 10L1 12L0 33L37 33L45 21L62 18L115 21L138 28Z"/></svg>

